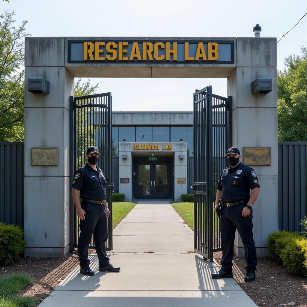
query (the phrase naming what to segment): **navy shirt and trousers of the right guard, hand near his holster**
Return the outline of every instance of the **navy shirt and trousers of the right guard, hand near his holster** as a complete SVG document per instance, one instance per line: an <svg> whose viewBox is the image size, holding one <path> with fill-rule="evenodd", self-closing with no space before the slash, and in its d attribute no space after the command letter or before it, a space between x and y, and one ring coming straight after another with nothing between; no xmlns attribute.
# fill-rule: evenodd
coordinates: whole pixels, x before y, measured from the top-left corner
<svg viewBox="0 0 307 307"><path fill-rule="evenodd" d="M237 229L242 239L246 270L255 271L257 265L257 255L255 241L253 239L253 208L247 217L243 217L242 210L247 205L250 198L250 189L260 188L257 175L250 166L241 162L235 168L231 166L222 170L217 189L222 191L224 207L220 217L221 247L222 247L222 270L227 273L232 272L233 244L235 240L235 230ZM242 201L234 207L227 207L227 203Z"/></svg>

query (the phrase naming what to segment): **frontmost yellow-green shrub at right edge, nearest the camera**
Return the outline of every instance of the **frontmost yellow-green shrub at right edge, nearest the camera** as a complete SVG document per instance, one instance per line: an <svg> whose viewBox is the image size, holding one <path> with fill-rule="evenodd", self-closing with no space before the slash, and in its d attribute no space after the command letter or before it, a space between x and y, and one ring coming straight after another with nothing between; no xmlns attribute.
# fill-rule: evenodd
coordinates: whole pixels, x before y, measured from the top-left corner
<svg viewBox="0 0 307 307"><path fill-rule="evenodd" d="M307 274L307 239L301 237L297 239L289 238L285 248L281 251L280 257L282 264L294 274L304 275Z"/></svg>

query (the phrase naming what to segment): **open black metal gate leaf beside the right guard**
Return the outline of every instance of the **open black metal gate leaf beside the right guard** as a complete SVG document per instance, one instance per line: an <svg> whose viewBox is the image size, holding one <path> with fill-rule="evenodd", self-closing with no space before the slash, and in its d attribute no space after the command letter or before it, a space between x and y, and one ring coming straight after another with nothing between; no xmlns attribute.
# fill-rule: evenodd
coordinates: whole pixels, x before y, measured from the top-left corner
<svg viewBox="0 0 307 307"><path fill-rule="evenodd" d="M212 86L194 93L194 251L213 260L221 250L214 201L225 153L231 147L231 96L212 94Z"/></svg>

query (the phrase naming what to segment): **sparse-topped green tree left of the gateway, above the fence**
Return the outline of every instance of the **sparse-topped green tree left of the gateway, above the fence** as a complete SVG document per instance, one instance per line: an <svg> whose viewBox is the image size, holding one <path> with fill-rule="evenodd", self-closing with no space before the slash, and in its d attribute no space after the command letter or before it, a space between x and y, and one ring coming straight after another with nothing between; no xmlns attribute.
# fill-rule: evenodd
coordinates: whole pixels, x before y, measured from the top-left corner
<svg viewBox="0 0 307 307"><path fill-rule="evenodd" d="M0 141L24 140L24 37L27 21L14 26L15 11L0 15Z"/></svg>

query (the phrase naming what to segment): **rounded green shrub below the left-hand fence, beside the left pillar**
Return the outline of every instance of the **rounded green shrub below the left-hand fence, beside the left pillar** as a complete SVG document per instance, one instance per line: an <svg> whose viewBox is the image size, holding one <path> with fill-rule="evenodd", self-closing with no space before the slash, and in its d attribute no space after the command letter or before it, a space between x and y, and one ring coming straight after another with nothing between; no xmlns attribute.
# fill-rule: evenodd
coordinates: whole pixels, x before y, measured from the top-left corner
<svg viewBox="0 0 307 307"><path fill-rule="evenodd" d="M19 259L25 251L23 230L20 226L0 223L0 265L8 265Z"/></svg>

